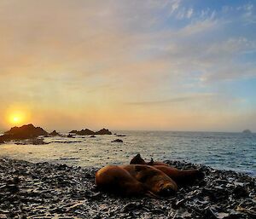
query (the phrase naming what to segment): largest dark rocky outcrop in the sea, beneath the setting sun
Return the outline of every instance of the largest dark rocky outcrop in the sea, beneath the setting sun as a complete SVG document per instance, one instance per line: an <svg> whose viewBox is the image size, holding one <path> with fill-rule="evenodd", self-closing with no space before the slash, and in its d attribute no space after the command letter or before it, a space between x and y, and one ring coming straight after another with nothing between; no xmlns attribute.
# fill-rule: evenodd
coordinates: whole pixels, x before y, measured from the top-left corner
<svg viewBox="0 0 256 219"><path fill-rule="evenodd" d="M25 124L21 127L13 127L0 136L0 141L23 140L36 138L39 135L48 135L48 132L41 127L35 127L32 124Z"/></svg>

